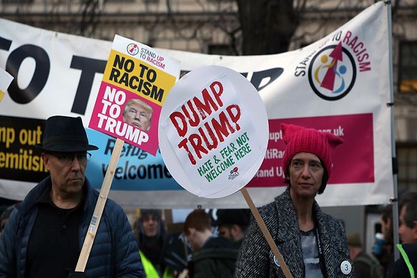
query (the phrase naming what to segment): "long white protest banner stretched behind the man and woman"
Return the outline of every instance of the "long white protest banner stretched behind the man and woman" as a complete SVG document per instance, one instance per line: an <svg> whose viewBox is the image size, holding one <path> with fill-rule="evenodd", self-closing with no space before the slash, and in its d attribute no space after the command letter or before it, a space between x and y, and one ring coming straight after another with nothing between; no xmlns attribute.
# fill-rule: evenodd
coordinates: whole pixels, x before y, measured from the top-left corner
<svg viewBox="0 0 417 278"><path fill-rule="evenodd" d="M259 91L270 136L265 159L245 186L256 205L285 189L281 122L331 131L345 140L335 150L334 172L318 197L320 206L387 204L393 197L387 9L379 1L325 38L283 54L215 56L157 49L180 60L183 72L220 65L239 72ZM22 199L47 174L33 148L40 126L50 115L81 115L88 122L111 42L3 19L0 40L0 67L15 77L0 102L0 196ZM325 79L332 67L337 74ZM86 175L99 188L115 139L92 129L87 133L100 149L92 152ZM188 193L159 152L152 156L129 144L122 149L109 196L122 206L246 207L236 193L223 198Z"/></svg>

